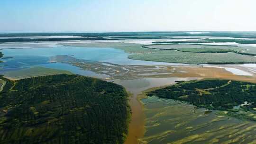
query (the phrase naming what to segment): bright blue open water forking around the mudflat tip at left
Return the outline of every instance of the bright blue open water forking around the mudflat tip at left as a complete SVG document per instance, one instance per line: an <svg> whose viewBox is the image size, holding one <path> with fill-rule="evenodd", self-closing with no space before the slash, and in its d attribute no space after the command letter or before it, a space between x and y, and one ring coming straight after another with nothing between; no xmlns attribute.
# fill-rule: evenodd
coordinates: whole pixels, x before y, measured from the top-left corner
<svg viewBox="0 0 256 144"><path fill-rule="evenodd" d="M73 46L58 46L44 48L23 48L0 50L4 57L12 59L0 59L0 73L27 68L29 66L42 66L59 70L66 70L74 74L106 78L105 74L82 70L79 67L64 63L49 63L49 58L55 55L71 55L75 58L89 61L108 62L130 65L175 65L174 63L149 62L128 59L128 53L115 48L87 48Z"/></svg>

